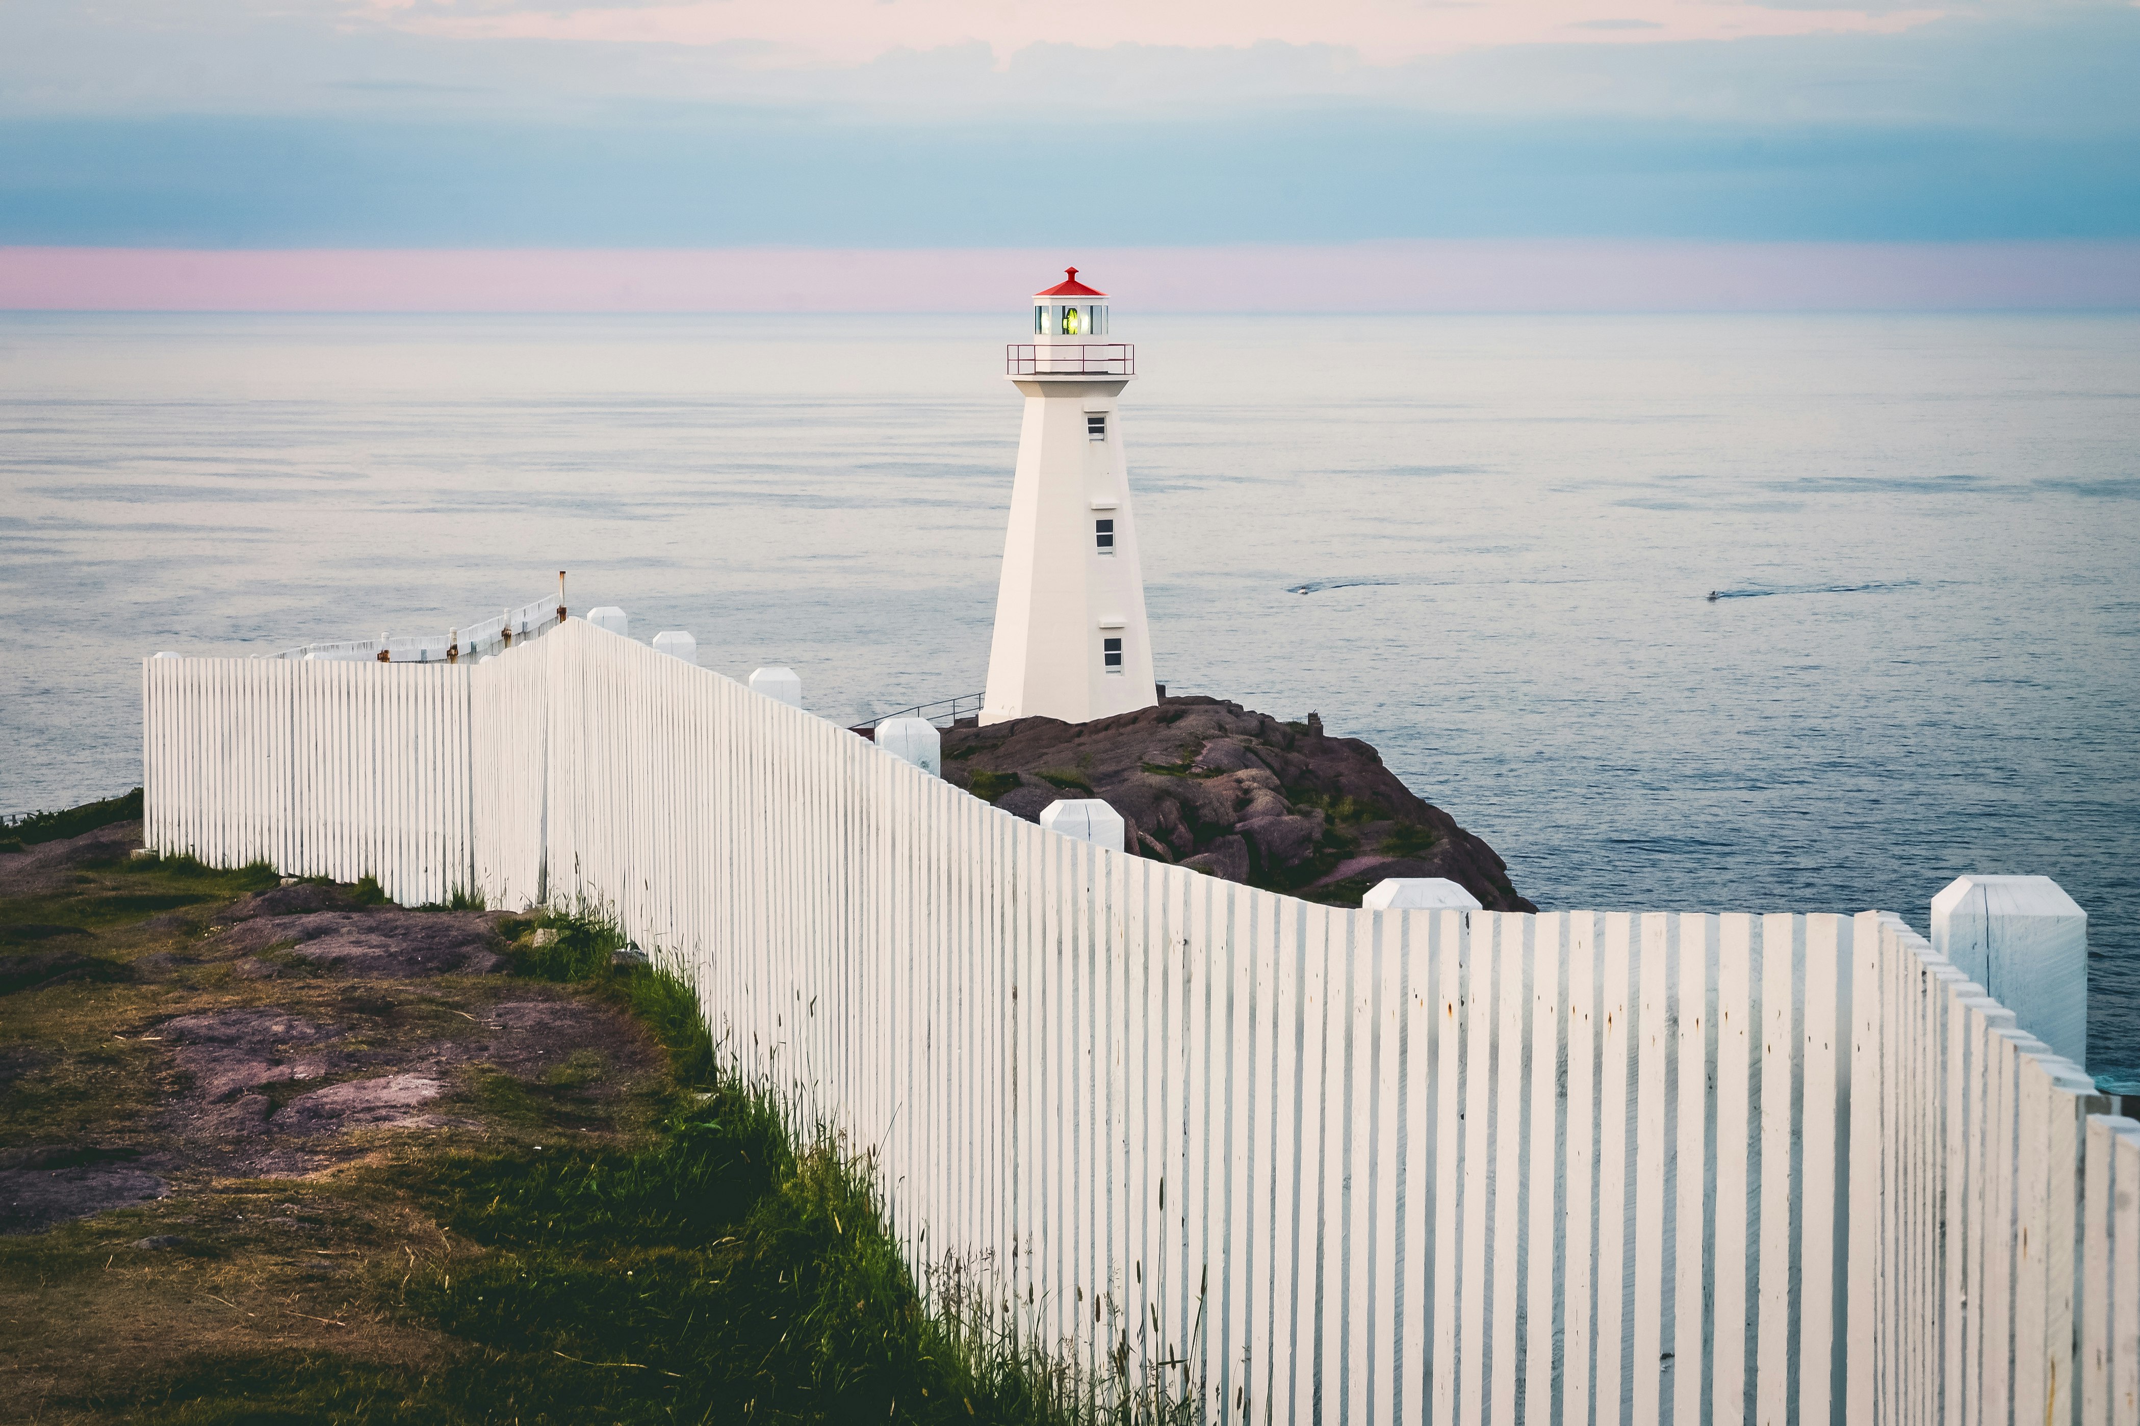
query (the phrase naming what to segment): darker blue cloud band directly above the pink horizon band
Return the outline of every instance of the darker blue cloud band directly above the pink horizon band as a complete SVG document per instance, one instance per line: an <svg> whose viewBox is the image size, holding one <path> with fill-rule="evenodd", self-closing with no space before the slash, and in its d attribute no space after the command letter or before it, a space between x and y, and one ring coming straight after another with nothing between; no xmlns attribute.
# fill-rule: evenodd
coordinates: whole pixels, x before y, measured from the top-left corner
<svg viewBox="0 0 2140 1426"><path fill-rule="evenodd" d="M1104 156L1104 162L1094 162ZM1074 182L1070 182L1074 180ZM728 109L636 122L0 126L0 244L1021 246L2140 233L2131 135L1389 109L1053 130Z"/></svg>

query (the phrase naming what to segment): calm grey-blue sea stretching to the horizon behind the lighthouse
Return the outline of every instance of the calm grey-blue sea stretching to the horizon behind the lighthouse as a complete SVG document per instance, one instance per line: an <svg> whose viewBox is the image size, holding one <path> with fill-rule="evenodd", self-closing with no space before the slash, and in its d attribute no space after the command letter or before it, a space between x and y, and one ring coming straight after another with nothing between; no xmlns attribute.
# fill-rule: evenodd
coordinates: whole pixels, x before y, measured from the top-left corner
<svg viewBox="0 0 2140 1426"><path fill-rule="evenodd" d="M139 780L150 650L559 569L830 716L978 691L1017 319L0 316L0 808ZM1367 738L1547 909L2046 872L2140 1088L2140 319L1119 336L1173 688Z"/></svg>

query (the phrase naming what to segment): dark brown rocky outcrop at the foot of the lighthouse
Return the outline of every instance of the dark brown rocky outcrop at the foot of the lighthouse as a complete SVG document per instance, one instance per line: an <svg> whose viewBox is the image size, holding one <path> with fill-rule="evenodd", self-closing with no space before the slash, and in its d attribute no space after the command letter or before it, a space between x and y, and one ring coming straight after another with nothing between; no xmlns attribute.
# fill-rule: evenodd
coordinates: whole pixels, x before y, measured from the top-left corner
<svg viewBox="0 0 2140 1426"><path fill-rule="evenodd" d="M1308 900L1357 906L1385 877L1447 877L1489 911L1537 911L1492 847L1316 714L1173 697L1094 723L954 727L944 778L1027 821L1057 797L1102 797L1138 855Z"/></svg>

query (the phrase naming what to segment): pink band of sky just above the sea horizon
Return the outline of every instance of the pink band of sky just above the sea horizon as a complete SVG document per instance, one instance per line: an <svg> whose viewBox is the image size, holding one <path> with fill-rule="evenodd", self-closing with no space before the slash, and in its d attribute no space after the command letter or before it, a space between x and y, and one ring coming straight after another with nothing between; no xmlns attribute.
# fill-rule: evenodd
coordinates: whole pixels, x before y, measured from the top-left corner
<svg viewBox="0 0 2140 1426"><path fill-rule="evenodd" d="M2140 308L2140 242L984 250L0 248L0 310L993 312L1076 263L1171 312Z"/></svg>

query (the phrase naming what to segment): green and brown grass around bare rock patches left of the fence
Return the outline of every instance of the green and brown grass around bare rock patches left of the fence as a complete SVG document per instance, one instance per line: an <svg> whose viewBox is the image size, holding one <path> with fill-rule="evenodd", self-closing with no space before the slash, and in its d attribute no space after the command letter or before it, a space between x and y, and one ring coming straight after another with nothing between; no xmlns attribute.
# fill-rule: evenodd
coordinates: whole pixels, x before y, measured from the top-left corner
<svg viewBox="0 0 2140 1426"><path fill-rule="evenodd" d="M616 964L625 936L601 917L494 921L514 943L514 977L235 981L203 958L201 934L220 902L276 881L265 866L137 857L28 898L36 917L88 930L0 964L45 964L49 949L77 945L94 964L0 994L0 1073L13 1075L0 1086L0 1144L163 1152L173 1080L152 1026L227 1005L287 1007L351 1030L364 1054L392 1054L454 1035L479 1050L488 1005L574 1001L618 1016L623 1039L599 1043L640 1048L522 1069L475 1058L439 1101L445 1127L372 1131L338 1169L180 1174L165 1199L0 1238L0 1319L30 1323L15 1328L24 1375L11 1368L0 1398L32 1375L43 1383L24 1415L32 1405L54 1422L154 1426L1183 1415L1126 1368L1102 1383L1070 1377L959 1264L929 1266L929 1311L886 1227L871 1157L785 1120L723 1060L687 983ZM184 909L128 926L139 898ZM0 926L30 921L24 900L0 902ZM306 1088L265 1092L280 1103ZM188 1244L131 1246L156 1234Z"/></svg>

